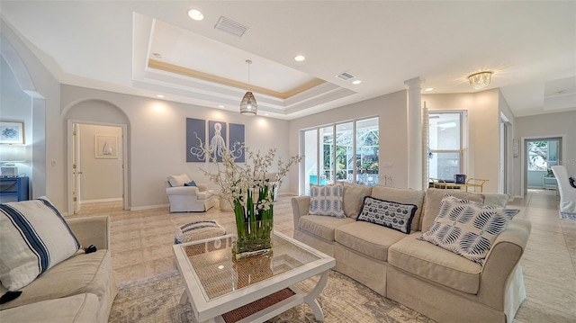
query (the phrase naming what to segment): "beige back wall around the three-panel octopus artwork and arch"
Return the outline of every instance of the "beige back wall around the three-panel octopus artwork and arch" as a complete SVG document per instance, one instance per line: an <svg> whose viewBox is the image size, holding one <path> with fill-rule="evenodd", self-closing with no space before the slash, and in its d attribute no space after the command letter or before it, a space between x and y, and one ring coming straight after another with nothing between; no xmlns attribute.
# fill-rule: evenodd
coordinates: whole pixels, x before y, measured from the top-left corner
<svg viewBox="0 0 576 323"><path fill-rule="evenodd" d="M240 98L238 98L239 101ZM265 152L277 149L277 157L287 160L288 121L262 116L247 117L239 112L173 103L145 97L62 85L63 119L116 122L129 125L130 206L141 209L167 203L167 175L185 173L197 183L210 184L200 167L211 164L187 163L186 118L224 121L246 126L246 144ZM60 131L64 134L66 130ZM64 148L65 150L67 147ZM275 166L271 167L274 171ZM214 184L211 188L218 189ZM284 182L280 193L290 186ZM63 193L64 194L64 193Z"/></svg>

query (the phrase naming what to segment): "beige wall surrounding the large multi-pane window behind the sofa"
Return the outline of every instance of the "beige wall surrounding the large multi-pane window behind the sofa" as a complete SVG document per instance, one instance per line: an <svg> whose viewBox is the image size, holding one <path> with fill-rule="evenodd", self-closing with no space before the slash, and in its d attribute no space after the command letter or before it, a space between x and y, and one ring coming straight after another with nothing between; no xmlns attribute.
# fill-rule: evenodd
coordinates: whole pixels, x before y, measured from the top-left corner
<svg viewBox="0 0 576 323"><path fill-rule="evenodd" d="M378 116L380 118L380 175L392 176L388 186L408 187L408 96L406 91L386 94L360 103L345 105L329 112L320 112L290 121L290 154L300 153L300 130ZM391 167L384 167L391 162ZM298 193L298 172L290 173L290 190Z"/></svg>

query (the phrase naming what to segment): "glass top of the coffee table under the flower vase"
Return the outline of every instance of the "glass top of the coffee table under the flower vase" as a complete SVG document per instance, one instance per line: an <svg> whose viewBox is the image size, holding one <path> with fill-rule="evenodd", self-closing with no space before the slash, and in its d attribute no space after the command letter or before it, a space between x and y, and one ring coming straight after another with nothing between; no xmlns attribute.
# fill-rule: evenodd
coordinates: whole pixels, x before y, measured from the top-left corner
<svg viewBox="0 0 576 323"><path fill-rule="evenodd" d="M271 253L236 260L233 240L229 235L182 247L205 301L330 258L275 232Z"/></svg>

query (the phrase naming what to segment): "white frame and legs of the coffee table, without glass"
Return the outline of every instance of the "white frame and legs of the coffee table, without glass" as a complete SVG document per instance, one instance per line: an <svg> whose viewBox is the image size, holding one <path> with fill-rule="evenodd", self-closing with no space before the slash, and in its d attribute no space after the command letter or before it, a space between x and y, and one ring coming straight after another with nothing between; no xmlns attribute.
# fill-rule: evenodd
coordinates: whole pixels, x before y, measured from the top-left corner
<svg viewBox="0 0 576 323"><path fill-rule="evenodd" d="M319 259L312 261L309 264L304 264L283 274L275 275L272 278L266 279L262 282L248 285L247 287L238 289L234 292L229 292L228 294L210 301L207 301L204 297L202 287L198 283L198 277L193 270L193 266L190 264L188 256L185 254L184 247L195 244L206 244L206 242L211 240L218 240L233 236L229 235L219 238L208 238L181 245L174 245L175 262L186 286L182 298L180 299L180 303L185 304L186 301L190 301L192 304L194 316L199 322L224 323L224 319L221 318L222 314L228 313L231 310L236 310L253 301L258 301L275 292L282 291L285 288L290 288L294 292L293 296L285 299L284 301L279 301L274 305L266 308L266 310L261 310L256 314L253 314L238 322L264 322L267 319L272 319L276 315L283 313L285 310L292 309L294 306L302 303L307 303L310 305L314 312L315 318L319 321L323 321L324 313L320 308L320 304L316 298L318 295L320 295L320 292L322 292L326 286L329 269L336 265L336 260L333 257L323 254L320 251L306 246L293 238L289 238L282 233L275 232L275 235L279 238L283 238L296 247L302 248L314 256L318 256ZM311 292L302 292L294 286L295 283L300 283L318 274L320 274L320 280L314 289L311 290Z"/></svg>

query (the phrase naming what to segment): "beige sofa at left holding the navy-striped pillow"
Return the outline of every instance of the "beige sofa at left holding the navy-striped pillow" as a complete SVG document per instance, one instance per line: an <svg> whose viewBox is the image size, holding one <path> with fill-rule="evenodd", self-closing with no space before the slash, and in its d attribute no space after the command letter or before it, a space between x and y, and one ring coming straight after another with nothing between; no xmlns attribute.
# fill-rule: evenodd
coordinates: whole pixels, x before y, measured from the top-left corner
<svg viewBox="0 0 576 323"><path fill-rule="evenodd" d="M98 250L49 268L23 287L14 301L0 305L0 322L107 322L118 293L110 255L110 218L67 220L82 246ZM0 294L6 289L0 285Z"/></svg>

